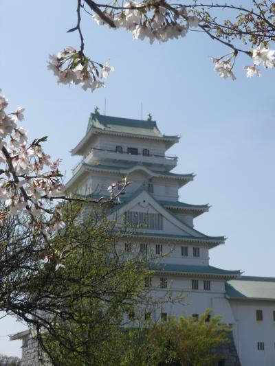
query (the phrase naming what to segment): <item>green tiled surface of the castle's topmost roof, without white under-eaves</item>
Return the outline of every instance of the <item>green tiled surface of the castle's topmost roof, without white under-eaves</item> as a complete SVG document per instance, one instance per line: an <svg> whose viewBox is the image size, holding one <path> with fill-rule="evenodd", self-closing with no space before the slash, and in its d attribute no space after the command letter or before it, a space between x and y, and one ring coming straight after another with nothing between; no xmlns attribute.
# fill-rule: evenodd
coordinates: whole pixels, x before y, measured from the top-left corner
<svg viewBox="0 0 275 366"><path fill-rule="evenodd" d="M153 137L166 137L178 139L177 136L166 136L157 128L155 121L143 121L140 119L129 119L122 117L111 117L109 115L100 115L91 113L87 132L90 128L110 131L114 133L129 133L134 135L145 135Z"/></svg>

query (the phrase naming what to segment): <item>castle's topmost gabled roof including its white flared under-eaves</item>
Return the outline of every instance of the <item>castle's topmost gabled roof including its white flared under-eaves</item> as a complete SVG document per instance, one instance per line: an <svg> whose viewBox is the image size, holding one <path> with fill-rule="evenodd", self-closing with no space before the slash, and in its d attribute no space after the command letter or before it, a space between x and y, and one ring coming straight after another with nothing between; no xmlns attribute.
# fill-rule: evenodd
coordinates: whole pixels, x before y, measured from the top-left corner
<svg viewBox="0 0 275 366"><path fill-rule="evenodd" d="M179 136L162 135L155 121L143 121L122 117L111 117L91 113L85 137L72 149L72 155L82 155L83 146L94 134L108 134L118 136L139 137L142 139L157 139L166 141L167 148L179 141Z"/></svg>

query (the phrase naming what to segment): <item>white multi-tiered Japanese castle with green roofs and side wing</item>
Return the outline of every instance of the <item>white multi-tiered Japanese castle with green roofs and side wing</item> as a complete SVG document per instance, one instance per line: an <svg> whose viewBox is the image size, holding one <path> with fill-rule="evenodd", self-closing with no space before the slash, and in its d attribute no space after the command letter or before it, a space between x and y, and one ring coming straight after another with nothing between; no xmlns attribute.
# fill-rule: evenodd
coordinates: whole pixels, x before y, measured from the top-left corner
<svg viewBox="0 0 275 366"><path fill-rule="evenodd" d="M155 318L199 317L211 308L232 325L242 366L275 366L275 279L210 266L210 250L224 244L225 238L206 236L194 228L194 219L208 211L208 205L179 201L179 189L194 176L171 172L177 157L166 150L178 141L178 136L162 135L151 120L91 113L85 136L72 150L81 160L67 190L107 196L107 187L127 176L133 183L109 217L141 225L133 238L134 250L163 255L151 265L155 275L148 286L155 295L162 297L167 288L175 297L184 295L182 301L157 310ZM228 357L220 365L239 365L237 358Z"/></svg>

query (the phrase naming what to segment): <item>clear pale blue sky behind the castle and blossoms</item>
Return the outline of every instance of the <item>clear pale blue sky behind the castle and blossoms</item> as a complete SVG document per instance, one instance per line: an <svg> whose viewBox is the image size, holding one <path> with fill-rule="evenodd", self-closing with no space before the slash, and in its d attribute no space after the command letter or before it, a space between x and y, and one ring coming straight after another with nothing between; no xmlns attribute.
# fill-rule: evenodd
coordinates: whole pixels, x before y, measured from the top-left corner
<svg viewBox="0 0 275 366"><path fill-rule="evenodd" d="M38 5L39 3L39 5ZM47 70L49 54L78 49L75 0L0 0L0 88L10 111L24 106L21 124L30 139L49 136L45 151L63 158L66 179L78 162L69 150L85 134L98 106L117 117L153 115L166 135L181 139L168 150L179 157L174 172L196 174L181 188L180 200L211 205L195 228L228 239L210 251L210 264L241 269L245 275L275 277L275 70L245 77L248 57L236 60L236 80L223 80L209 56L228 53L199 32L159 45L133 41L122 30L99 27L83 14L85 52L115 71L94 93L63 86ZM0 320L0 354L21 355L21 341L8 334L25 329L12 317Z"/></svg>

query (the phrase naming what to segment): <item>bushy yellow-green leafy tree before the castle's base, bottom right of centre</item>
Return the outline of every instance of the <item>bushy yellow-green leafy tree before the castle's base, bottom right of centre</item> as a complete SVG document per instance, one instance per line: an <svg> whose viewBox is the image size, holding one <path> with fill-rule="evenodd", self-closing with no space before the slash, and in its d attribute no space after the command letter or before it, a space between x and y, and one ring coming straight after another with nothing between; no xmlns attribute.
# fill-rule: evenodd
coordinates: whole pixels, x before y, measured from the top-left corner
<svg viewBox="0 0 275 366"><path fill-rule="evenodd" d="M221 317L210 317L207 310L199 319L170 317L148 332L151 363L156 366L213 366L221 358L217 349L228 342L231 331L220 323ZM151 349L151 350L150 350ZM144 361L144 365L146 365Z"/></svg>

